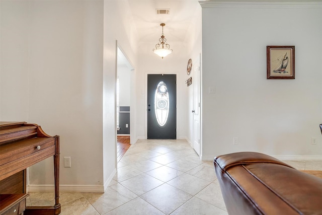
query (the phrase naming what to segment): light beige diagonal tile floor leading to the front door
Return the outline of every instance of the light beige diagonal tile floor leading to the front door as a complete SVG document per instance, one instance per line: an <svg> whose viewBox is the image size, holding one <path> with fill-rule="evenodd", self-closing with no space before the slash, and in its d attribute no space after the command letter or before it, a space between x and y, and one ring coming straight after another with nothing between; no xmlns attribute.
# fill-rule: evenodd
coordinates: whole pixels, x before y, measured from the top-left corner
<svg viewBox="0 0 322 215"><path fill-rule="evenodd" d="M284 161L322 170L322 161ZM50 199L50 200L48 200ZM53 205L53 193L30 193L27 205ZM139 140L118 163L105 193L60 193L61 214L228 214L212 161L186 140Z"/></svg>

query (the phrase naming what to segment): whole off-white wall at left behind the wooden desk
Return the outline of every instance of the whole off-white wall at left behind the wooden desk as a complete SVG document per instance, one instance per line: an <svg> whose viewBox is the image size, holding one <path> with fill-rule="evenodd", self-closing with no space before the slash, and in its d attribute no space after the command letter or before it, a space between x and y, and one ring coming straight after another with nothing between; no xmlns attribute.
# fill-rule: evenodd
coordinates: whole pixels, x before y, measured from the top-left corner
<svg viewBox="0 0 322 215"><path fill-rule="evenodd" d="M60 163L71 157L62 189L104 190L103 1L2 1L1 10L1 120L60 135ZM53 184L52 158L30 168L30 184Z"/></svg>

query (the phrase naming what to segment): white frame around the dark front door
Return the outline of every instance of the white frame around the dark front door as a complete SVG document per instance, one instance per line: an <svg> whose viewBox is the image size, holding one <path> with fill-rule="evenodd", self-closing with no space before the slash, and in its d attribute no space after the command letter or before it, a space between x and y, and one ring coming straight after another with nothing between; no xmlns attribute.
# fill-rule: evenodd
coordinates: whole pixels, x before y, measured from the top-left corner
<svg viewBox="0 0 322 215"><path fill-rule="evenodd" d="M179 125L180 123L178 123L178 120L179 120L179 117L178 117L178 92L179 92L179 87L178 87L178 80L179 79L179 73L171 73L171 72L167 72L167 73L145 73L145 86L144 86L144 138L147 139L147 75L162 75L162 74L167 74L167 75L176 75L176 93L177 93L177 96L176 96L176 107L177 107L177 114L176 114L176 126L177 126L177 129L176 129L176 139L178 139L178 130L180 129Z"/></svg>

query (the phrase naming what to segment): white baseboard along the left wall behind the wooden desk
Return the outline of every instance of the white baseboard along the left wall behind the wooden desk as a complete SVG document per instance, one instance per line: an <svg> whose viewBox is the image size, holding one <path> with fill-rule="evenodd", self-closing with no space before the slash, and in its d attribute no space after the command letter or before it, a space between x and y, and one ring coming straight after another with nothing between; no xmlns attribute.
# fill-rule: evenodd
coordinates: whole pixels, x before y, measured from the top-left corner
<svg viewBox="0 0 322 215"><path fill-rule="evenodd" d="M54 185L33 185L28 186L28 192L54 192ZM79 192L79 193L104 193L103 185L59 185L59 192Z"/></svg>

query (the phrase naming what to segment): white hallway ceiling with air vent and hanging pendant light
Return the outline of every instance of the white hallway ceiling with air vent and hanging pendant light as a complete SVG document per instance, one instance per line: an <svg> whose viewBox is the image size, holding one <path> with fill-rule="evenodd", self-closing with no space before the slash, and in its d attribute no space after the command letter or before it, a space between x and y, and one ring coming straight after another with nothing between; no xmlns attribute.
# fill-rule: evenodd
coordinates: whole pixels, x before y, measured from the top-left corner
<svg viewBox="0 0 322 215"><path fill-rule="evenodd" d="M139 41L158 42L165 23L168 42L184 41L194 14L201 8L198 0L128 0ZM170 14L156 14L155 9L170 9Z"/></svg>

